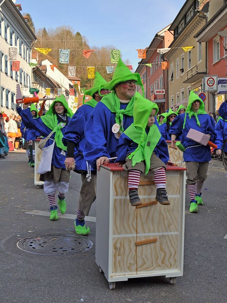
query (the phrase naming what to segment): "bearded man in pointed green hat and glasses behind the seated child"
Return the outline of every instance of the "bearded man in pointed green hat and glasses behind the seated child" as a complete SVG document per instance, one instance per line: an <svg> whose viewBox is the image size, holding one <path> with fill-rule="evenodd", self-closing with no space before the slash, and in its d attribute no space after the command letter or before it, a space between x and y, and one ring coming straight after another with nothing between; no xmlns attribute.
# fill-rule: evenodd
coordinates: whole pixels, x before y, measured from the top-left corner
<svg viewBox="0 0 227 303"><path fill-rule="evenodd" d="M108 158L116 157L119 136L133 122L135 94L139 94L136 85L141 86L144 96L140 75L132 73L119 58L112 81L99 88L100 94L102 89L112 92L102 98L88 119L84 148L85 159L97 170L109 162Z"/></svg>

